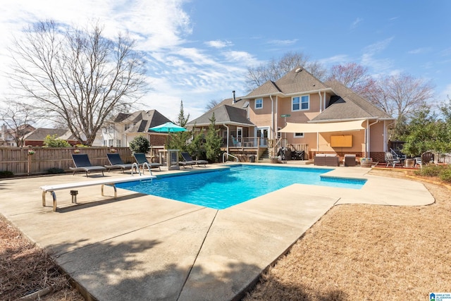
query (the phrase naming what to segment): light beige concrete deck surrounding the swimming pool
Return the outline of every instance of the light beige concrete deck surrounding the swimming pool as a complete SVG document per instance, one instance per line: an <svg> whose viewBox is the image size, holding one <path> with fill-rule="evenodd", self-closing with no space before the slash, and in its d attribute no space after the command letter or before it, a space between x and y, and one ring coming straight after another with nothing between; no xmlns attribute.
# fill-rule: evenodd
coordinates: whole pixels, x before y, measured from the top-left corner
<svg viewBox="0 0 451 301"><path fill-rule="evenodd" d="M0 180L0 212L97 300L236 300L335 204L434 202L421 183L369 170L328 173L368 179L361 190L295 184L223 210L121 189L113 199L109 187L101 197L100 186L90 186L78 188L77 205L69 190L56 192L53 212L49 201L42 207L39 186L101 175L13 178Z"/></svg>

